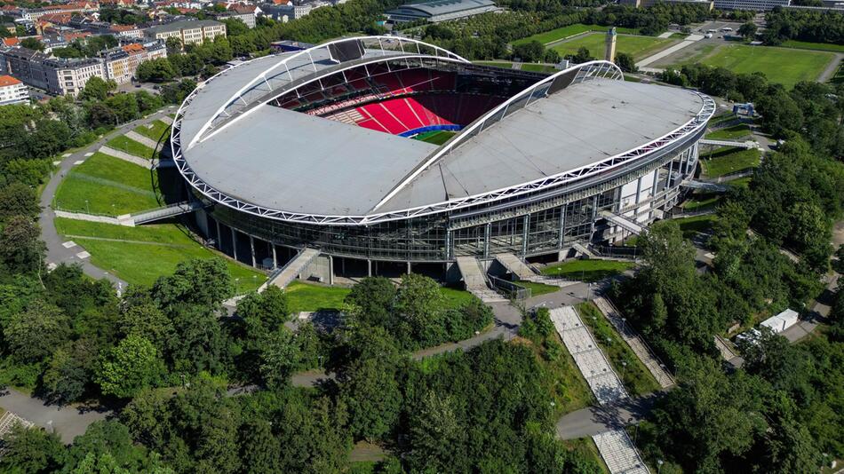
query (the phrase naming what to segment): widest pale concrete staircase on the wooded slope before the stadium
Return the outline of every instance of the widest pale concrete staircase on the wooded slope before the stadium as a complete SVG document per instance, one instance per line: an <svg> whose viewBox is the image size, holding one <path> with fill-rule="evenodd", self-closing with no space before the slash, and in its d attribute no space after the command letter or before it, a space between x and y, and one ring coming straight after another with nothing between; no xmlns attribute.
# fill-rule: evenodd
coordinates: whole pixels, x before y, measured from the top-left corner
<svg viewBox="0 0 844 474"><path fill-rule="evenodd" d="M585 328L574 306L553 308L551 321L599 404L607 405L629 398L624 384L595 343L592 333Z"/></svg>

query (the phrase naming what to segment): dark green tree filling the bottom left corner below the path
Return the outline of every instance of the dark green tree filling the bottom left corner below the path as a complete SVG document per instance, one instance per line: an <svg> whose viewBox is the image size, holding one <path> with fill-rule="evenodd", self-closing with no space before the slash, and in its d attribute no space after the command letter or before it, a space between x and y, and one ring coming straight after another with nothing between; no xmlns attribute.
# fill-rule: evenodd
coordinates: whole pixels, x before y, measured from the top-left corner
<svg viewBox="0 0 844 474"><path fill-rule="evenodd" d="M15 424L3 441L0 470L4 472L56 472L64 461L64 446L59 435L40 428Z"/></svg>

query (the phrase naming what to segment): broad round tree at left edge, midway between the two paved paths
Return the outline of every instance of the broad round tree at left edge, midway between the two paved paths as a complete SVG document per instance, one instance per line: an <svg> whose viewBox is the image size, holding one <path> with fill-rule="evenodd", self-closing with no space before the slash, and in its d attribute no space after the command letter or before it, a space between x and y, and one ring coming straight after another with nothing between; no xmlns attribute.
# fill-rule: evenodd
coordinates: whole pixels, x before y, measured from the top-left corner
<svg viewBox="0 0 844 474"><path fill-rule="evenodd" d="M70 321L52 304L36 299L4 328L8 350L22 362L39 362L70 336Z"/></svg>

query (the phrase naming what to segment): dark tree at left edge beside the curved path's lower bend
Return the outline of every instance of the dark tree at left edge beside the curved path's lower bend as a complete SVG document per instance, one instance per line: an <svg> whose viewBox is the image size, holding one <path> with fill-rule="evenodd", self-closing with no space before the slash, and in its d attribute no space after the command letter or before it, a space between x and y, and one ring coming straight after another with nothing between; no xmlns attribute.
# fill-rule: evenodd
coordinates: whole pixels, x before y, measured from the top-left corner
<svg viewBox="0 0 844 474"><path fill-rule="evenodd" d="M12 272L40 271L45 250L41 229L29 217L10 218L0 233L0 259Z"/></svg>

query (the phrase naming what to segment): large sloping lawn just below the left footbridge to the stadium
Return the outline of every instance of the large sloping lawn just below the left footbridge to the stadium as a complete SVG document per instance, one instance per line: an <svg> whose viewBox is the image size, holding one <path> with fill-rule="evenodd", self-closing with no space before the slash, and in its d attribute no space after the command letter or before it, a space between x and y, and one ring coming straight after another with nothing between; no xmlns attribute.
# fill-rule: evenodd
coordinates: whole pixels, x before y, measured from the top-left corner
<svg viewBox="0 0 844 474"><path fill-rule="evenodd" d="M56 230L91 253L91 263L114 273L132 285L149 286L173 273L176 265L190 258L211 258L219 254L205 249L179 225L100 224L57 217ZM228 271L237 279L237 292L258 288L267 277L224 258Z"/></svg>

